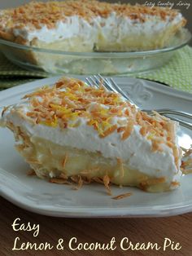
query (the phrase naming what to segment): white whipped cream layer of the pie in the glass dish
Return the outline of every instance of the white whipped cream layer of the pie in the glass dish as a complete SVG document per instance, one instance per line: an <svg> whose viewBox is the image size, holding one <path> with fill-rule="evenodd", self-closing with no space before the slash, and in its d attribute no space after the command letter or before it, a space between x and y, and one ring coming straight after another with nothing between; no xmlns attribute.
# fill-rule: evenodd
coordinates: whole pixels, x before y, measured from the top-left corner
<svg viewBox="0 0 192 256"><path fill-rule="evenodd" d="M96 16L88 21L78 15L72 15L65 16L64 22L58 21L55 29L48 29L46 24L40 24L41 29L32 29L26 26L21 29L13 29L13 33L15 36L20 36L29 42L37 38L39 41L46 43L78 36L94 47L94 44L97 44L100 38L105 38L108 42L118 43L130 34L150 36L153 33L162 33L164 29L180 23L183 19L181 13L177 13L173 18L167 16L164 20L155 15L143 15L143 18L144 22L141 22L111 12L107 18Z"/></svg>

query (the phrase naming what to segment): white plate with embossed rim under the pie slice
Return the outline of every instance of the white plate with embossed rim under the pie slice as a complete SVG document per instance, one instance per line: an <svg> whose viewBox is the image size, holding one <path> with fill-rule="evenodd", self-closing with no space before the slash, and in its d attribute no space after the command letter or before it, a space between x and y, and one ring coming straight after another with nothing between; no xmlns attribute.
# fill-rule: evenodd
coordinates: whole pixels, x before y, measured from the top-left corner
<svg viewBox="0 0 192 256"><path fill-rule="evenodd" d="M82 77L80 77L82 79ZM1 105L14 104L29 91L53 84L58 77L30 82L0 92ZM118 77L116 81L143 108L177 108L192 113L192 95L155 82ZM125 86L126 85L126 86ZM0 192L15 205L38 214L59 217L149 217L183 214L192 210L192 175L181 179L181 188L172 192L147 193L137 188L111 186L113 196L133 192L116 201L107 196L103 185L89 184L79 191L70 186L47 183L28 177L28 165L14 149L10 130L0 128ZM189 148L192 132L181 130L179 142Z"/></svg>

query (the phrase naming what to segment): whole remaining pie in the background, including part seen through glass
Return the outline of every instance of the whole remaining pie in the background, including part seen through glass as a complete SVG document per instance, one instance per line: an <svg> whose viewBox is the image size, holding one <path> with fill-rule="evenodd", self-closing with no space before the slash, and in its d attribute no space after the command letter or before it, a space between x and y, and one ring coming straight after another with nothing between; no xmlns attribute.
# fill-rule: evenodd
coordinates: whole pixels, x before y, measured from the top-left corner
<svg viewBox="0 0 192 256"><path fill-rule="evenodd" d="M172 46L183 37L185 22L179 11L164 7L94 0L29 2L0 11L0 38L19 44L3 42L2 50L24 68L59 74L135 73L161 65L161 58L116 52ZM164 55L164 62L169 58Z"/></svg>

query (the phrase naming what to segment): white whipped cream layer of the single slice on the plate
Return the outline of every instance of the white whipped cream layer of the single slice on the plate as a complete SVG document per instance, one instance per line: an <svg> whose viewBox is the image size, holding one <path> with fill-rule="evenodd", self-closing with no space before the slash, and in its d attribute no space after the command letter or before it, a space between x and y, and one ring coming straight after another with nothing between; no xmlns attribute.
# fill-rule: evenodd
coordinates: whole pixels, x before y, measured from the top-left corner
<svg viewBox="0 0 192 256"><path fill-rule="evenodd" d="M22 115L20 115L21 111ZM6 126L7 122L11 122L14 126L19 126L32 141L33 138L41 138L61 146L84 149L88 152L101 152L103 157L110 158L111 162L120 157L124 164L129 164L131 169L157 178L164 176L168 183L179 181L181 177L181 170L177 169L172 148L163 144L162 152L152 152L151 140L139 132L141 126L133 126L131 135L125 140L120 139L120 133L117 132L113 132L105 138L99 138L94 127L87 125L85 118L81 117L77 120L80 121L78 127L61 129L59 126L33 124L26 116L28 111L30 111L30 106L27 102L10 107L3 114L0 125ZM116 117L113 122L117 124L118 120L120 120L119 117ZM179 161L179 165L181 165L181 161Z"/></svg>

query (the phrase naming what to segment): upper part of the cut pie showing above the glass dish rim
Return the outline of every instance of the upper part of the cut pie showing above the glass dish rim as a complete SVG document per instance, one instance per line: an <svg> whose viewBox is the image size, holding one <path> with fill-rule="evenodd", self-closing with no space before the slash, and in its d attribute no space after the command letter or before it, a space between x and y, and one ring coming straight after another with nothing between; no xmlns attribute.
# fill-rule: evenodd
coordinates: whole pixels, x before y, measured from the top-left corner
<svg viewBox="0 0 192 256"><path fill-rule="evenodd" d="M0 12L0 37L63 51L145 51L185 26L177 10L97 2L30 2Z"/></svg>

